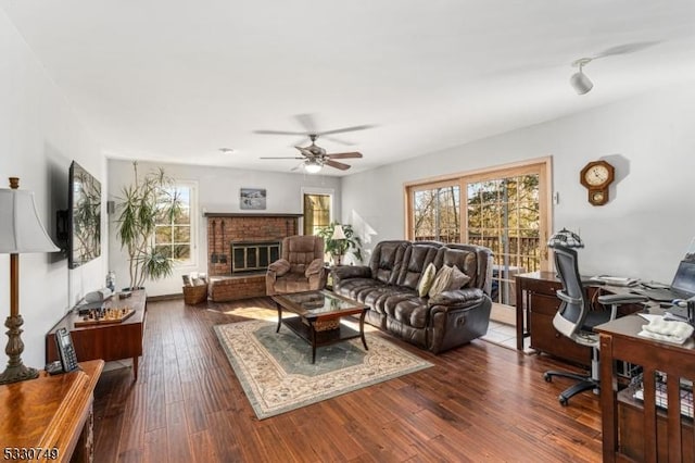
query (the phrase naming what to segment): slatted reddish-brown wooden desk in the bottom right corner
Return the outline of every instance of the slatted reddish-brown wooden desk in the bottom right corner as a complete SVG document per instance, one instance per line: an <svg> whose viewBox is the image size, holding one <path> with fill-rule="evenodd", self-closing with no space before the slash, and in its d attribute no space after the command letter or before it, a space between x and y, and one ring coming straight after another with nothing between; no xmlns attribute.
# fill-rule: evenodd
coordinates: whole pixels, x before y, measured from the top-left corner
<svg viewBox="0 0 695 463"><path fill-rule="evenodd" d="M618 434L617 361L641 365L644 374L644 404L642 443L644 461L659 461L659 453L668 454L669 462L684 461L692 449L684 450L682 420L679 406L679 378L695 379L695 340L683 345L660 342L637 336L646 321L628 315L597 326L601 334L601 410L603 417L604 462L631 461L621 450ZM668 375L668 412L666 436L657 437L657 408L655 372ZM693 433L693 428L690 428ZM692 437L692 436L691 436ZM624 447L624 446L622 446ZM664 456L661 458L664 461Z"/></svg>

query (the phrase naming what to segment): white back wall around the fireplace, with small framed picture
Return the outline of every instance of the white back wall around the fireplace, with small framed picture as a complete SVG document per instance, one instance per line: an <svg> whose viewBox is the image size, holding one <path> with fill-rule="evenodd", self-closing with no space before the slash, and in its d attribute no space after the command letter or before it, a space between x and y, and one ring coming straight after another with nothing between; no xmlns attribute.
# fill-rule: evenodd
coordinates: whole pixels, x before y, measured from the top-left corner
<svg viewBox="0 0 695 463"><path fill-rule="evenodd" d="M251 213L302 213L302 189L334 191L336 216L340 216L340 178L324 175L285 174L265 171L242 171L226 167L203 167L182 164L138 163L138 172L146 173L163 167L165 173L179 180L198 185L198 214L194 226L197 243L195 263L178 266L174 274L165 279L148 281L148 296L175 295L181 292L181 275L190 272L207 272L207 236L203 212L251 212ZM124 186L132 182L130 161L109 160L109 199L121 196ZM242 211L239 208L240 188L265 188L267 203L265 211ZM117 212L117 211L116 211ZM116 237L115 220L117 214L109 216L110 236L109 266L116 273L118 287L129 286L127 254L121 249Z"/></svg>

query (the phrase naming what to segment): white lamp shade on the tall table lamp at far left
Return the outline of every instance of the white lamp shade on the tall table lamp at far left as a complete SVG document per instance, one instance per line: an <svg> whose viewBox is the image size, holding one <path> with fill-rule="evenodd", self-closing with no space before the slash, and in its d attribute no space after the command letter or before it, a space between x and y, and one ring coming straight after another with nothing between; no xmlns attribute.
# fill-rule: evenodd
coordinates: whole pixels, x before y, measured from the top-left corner
<svg viewBox="0 0 695 463"><path fill-rule="evenodd" d="M0 189L0 253L56 252L36 211L34 193Z"/></svg>

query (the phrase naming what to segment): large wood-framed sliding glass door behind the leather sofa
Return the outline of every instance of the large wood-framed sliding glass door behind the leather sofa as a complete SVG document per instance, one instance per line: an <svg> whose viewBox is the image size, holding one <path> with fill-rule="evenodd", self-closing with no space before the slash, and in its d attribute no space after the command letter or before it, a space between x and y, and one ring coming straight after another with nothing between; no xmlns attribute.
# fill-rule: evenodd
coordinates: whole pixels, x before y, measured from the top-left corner
<svg viewBox="0 0 695 463"><path fill-rule="evenodd" d="M544 159L406 185L407 237L490 248L493 300L514 304L515 276L548 268L549 168Z"/></svg>

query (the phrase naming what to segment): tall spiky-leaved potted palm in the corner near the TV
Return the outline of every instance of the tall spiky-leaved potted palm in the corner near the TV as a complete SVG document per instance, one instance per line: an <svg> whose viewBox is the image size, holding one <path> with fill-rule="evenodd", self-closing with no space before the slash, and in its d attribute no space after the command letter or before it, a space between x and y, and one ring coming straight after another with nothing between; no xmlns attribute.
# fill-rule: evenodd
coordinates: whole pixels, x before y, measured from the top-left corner
<svg viewBox="0 0 695 463"><path fill-rule="evenodd" d="M181 213L181 203L163 168L138 176L138 163L132 163L134 183L125 186L116 208L116 234L121 248L128 253L130 287L142 288L147 279L160 279L172 274L174 260L165 249L154 246L156 224L170 223Z"/></svg>

